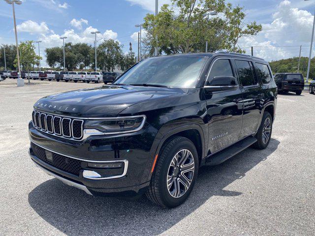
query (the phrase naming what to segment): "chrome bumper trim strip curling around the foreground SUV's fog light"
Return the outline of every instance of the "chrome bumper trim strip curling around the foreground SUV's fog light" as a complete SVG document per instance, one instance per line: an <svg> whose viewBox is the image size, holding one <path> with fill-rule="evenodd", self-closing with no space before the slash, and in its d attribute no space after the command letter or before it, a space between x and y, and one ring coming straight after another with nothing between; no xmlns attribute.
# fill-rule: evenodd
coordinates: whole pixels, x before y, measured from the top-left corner
<svg viewBox="0 0 315 236"><path fill-rule="evenodd" d="M113 162L123 162L124 163L124 171L123 171L123 174L119 175L119 176L110 176L110 177L85 177L85 178L88 178L88 179L113 179L113 178L121 178L121 177L124 177L126 176L127 174L127 170L128 170L128 160L106 160L106 161L96 161L96 160L87 160L87 159L82 159L82 158L77 158L77 157L73 157L73 156L69 156L69 155L65 155L63 153L60 153L60 152L57 152L57 151L54 151L54 150L51 150L49 148L46 148L46 147L43 147L41 145L38 145L34 142L31 142L33 143L34 145L37 145L38 147L40 148L43 148L45 150L48 150L50 152L54 152L56 154L59 154L59 155L62 155L62 156L65 156L65 157L68 157L68 158L72 158L72 159L76 159L76 160L80 160L80 161L84 161L84 162L93 162L93 163L113 163ZM58 168L57 168L58 169Z"/></svg>

